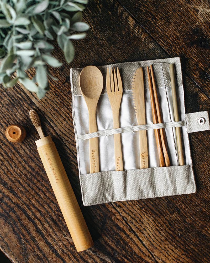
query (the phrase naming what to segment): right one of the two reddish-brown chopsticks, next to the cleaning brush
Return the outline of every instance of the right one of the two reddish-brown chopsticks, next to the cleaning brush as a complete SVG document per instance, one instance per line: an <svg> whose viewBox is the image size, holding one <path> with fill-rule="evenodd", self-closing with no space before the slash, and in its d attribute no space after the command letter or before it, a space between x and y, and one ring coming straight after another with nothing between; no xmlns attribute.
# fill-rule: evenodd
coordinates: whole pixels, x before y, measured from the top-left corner
<svg viewBox="0 0 210 263"><path fill-rule="evenodd" d="M158 123L163 123L159 99L158 99L158 92L157 92L156 83L155 83L155 76L154 76L154 71L153 71L152 65L150 65L150 71L151 71L151 78L152 78L152 82L153 82L153 92L154 92L154 97L155 97L156 111L157 111L157 115L158 115ZM166 166L170 166L171 164L170 164L169 155L168 155L168 151L167 151L166 133L165 133L164 128L160 129L160 137L161 137L161 142L162 142L163 154L164 154L164 158L165 158L165 164L166 164Z"/></svg>

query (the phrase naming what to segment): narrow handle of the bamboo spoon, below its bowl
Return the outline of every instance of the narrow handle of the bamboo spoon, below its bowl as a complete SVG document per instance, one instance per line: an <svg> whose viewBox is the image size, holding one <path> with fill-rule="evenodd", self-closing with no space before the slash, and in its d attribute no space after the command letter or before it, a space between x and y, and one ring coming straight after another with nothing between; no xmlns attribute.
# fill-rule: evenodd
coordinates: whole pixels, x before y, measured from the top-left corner
<svg viewBox="0 0 210 263"><path fill-rule="evenodd" d="M89 114L89 133L96 132L96 112ZM98 138L89 139L90 173L99 172Z"/></svg>

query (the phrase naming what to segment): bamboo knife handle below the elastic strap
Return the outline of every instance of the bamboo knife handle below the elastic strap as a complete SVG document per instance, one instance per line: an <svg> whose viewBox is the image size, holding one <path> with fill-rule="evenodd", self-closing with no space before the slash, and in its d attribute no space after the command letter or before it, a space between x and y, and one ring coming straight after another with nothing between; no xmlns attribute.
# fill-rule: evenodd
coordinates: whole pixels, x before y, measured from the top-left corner
<svg viewBox="0 0 210 263"><path fill-rule="evenodd" d="M140 169L149 168L146 130L139 131Z"/></svg>

